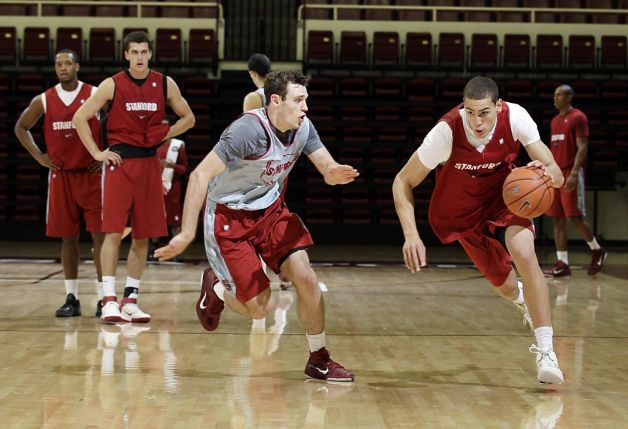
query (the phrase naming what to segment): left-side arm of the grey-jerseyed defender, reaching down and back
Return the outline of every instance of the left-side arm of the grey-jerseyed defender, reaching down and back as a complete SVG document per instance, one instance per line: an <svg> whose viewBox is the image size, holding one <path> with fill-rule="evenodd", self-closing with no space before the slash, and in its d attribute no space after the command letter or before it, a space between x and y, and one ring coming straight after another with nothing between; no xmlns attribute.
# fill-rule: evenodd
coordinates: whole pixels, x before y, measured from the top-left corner
<svg viewBox="0 0 628 429"><path fill-rule="evenodd" d="M198 216L205 203L209 181L227 169L218 155L212 150L203 161L192 171L188 180L183 215L181 217L181 232L175 235L170 243L155 250L155 257L160 261L174 258L182 253L194 241Z"/></svg>

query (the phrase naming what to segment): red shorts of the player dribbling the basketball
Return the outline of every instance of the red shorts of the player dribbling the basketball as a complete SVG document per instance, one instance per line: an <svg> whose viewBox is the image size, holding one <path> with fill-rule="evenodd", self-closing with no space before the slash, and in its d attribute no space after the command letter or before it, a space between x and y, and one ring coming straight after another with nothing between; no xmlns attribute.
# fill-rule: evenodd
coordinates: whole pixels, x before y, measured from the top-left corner
<svg viewBox="0 0 628 429"><path fill-rule="evenodd" d="M534 233L534 224L530 219L515 216L508 209L500 209L483 226L459 240L477 269L493 286L503 285L512 270L512 258L498 239L498 230L514 225L528 228Z"/></svg>

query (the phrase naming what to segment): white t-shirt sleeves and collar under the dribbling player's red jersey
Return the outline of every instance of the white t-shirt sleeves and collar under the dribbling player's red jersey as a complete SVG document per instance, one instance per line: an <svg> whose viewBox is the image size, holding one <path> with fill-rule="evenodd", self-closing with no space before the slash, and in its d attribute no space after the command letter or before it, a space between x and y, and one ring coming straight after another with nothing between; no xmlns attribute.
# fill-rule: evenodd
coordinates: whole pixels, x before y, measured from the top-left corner
<svg viewBox="0 0 628 429"><path fill-rule="evenodd" d="M536 123L527 112L526 109L515 103L508 103L510 111L510 129L515 140L527 146L530 143L541 140L539 130ZM493 125L493 129L484 138L477 138L473 135L473 130L469 127L465 109L460 109L460 116L464 126L464 133L469 143L482 152L488 142L493 138L497 121ZM423 139L423 143L417 149L419 159L427 168L434 169L439 164L444 163L451 156L451 148L453 145L453 132L447 122L440 121Z"/></svg>

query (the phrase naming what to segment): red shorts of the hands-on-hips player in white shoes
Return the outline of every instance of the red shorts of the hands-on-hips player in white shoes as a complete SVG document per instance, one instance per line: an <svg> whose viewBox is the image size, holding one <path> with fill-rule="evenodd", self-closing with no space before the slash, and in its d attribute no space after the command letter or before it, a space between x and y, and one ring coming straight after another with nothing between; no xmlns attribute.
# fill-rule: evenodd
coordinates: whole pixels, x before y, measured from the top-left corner
<svg viewBox="0 0 628 429"><path fill-rule="evenodd" d="M157 157L127 158L104 169L102 231L122 233L131 217L133 238L166 235L166 209Z"/></svg>

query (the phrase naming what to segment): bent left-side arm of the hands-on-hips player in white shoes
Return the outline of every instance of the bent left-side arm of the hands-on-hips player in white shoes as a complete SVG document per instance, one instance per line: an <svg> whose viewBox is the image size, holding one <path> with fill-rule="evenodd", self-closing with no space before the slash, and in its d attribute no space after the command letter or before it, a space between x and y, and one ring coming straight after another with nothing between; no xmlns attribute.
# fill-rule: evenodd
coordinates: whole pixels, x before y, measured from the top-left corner
<svg viewBox="0 0 628 429"><path fill-rule="evenodd" d="M96 160L104 162L105 165L120 165L122 157L115 152L101 151L92 136L88 121L94 117L109 100L113 99L115 83L112 78L107 78L98 86L96 92L87 99L85 103L76 111L72 122L83 145L89 154Z"/></svg>

